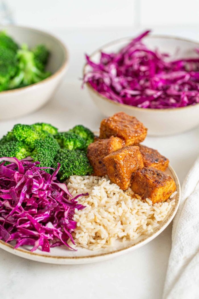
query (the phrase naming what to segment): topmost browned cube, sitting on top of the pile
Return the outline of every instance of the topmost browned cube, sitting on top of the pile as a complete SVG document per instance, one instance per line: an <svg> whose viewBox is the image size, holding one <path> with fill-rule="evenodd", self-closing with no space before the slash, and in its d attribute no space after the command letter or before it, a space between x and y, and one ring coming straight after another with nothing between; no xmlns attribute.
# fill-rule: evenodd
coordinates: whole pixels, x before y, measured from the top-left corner
<svg viewBox="0 0 199 299"><path fill-rule="evenodd" d="M142 142L146 133L147 129L143 123L124 112L116 113L101 121L100 138L117 136L124 140L125 146Z"/></svg>

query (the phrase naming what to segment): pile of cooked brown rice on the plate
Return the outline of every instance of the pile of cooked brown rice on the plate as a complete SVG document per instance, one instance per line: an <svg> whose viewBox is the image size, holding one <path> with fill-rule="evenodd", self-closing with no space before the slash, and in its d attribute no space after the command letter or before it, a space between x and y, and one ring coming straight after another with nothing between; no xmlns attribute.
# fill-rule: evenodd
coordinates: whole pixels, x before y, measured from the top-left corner
<svg viewBox="0 0 199 299"><path fill-rule="evenodd" d="M78 200L86 208L75 210L73 237L77 246L90 250L114 246L116 239L150 234L175 204L175 199L154 205L149 199L144 202L132 190L124 192L111 184L107 176L70 176L67 187L73 196L89 193Z"/></svg>

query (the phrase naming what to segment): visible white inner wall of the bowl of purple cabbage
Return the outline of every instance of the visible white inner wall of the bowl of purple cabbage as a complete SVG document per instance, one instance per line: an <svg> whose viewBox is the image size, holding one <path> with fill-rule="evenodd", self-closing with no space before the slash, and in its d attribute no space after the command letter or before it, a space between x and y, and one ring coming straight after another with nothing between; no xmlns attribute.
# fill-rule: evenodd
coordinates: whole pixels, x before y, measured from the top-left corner
<svg viewBox="0 0 199 299"><path fill-rule="evenodd" d="M105 51L107 53L117 52L122 47L127 45L132 40L130 38L123 38L111 42L107 45L102 46L100 49L95 51L91 54L91 59L94 62L99 62L100 59L100 52ZM171 55L169 59L181 59L181 58L188 58L188 57L196 57L198 58L198 54L195 51L195 48L199 48L199 43L180 39L177 37L170 37L170 36L146 36L143 38L143 42L146 46L151 49L155 50L158 49L162 53L168 53ZM86 65L84 68L84 73L90 71L90 66Z"/></svg>

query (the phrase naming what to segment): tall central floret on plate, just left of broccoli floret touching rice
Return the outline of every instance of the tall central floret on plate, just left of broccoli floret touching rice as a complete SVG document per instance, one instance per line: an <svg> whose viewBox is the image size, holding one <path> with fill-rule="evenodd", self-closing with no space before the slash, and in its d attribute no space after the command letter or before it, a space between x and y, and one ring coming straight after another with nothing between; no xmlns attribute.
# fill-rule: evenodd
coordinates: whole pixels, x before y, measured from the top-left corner
<svg viewBox="0 0 199 299"><path fill-rule="evenodd" d="M51 167L55 155L60 149L58 142L52 135L47 136L46 138L37 139L34 144L35 149L31 153L31 157L34 161L39 161L40 167ZM50 170L47 170L50 172Z"/></svg>

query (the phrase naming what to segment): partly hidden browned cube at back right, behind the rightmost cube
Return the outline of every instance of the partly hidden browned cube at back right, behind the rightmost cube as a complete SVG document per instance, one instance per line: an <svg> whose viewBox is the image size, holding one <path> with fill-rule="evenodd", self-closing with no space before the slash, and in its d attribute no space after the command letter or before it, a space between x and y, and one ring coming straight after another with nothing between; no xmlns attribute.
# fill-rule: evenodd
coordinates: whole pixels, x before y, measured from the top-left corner
<svg viewBox="0 0 199 299"><path fill-rule="evenodd" d="M142 144L138 145L142 154L145 167L154 167L156 169L165 171L169 165L169 160L162 156L156 149L146 147Z"/></svg>

